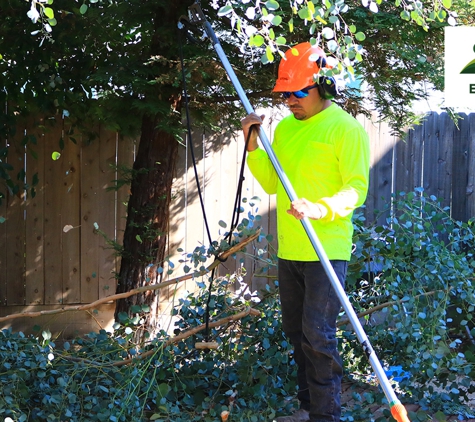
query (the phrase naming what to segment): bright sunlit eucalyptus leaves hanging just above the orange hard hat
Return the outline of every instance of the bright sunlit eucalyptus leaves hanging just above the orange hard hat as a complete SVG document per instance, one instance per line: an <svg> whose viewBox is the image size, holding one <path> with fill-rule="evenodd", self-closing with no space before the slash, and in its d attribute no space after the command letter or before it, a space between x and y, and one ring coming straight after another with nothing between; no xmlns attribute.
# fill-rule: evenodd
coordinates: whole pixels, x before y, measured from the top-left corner
<svg viewBox="0 0 475 422"><path fill-rule="evenodd" d="M224 3L224 4L223 4ZM379 12L383 0L362 0L354 5L345 0L228 0L214 2L218 15L231 19L231 25L245 35L250 47L263 50L261 61L272 63L276 54L284 57L283 51L291 44L296 26L308 28L312 44L321 46L332 58L332 74L354 78L355 65L363 61L364 32L352 22L352 12L357 8L367 9L368 16ZM422 1L395 1L400 9L400 18L413 21L429 30L431 23L448 21L456 24L456 12L450 11L451 0L434 3Z"/></svg>

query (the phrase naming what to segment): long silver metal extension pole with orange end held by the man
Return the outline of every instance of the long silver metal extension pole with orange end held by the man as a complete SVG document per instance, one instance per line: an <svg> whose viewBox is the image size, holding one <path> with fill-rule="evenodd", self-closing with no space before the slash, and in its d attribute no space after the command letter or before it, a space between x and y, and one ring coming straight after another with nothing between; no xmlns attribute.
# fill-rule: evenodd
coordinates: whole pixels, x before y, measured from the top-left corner
<svg viewBox="0 0 475 422"><path fill-rule="evenodd" d="M216 37L216 34L211 27L211 24L206 20L206 17L201 10L201 7L198 3L193 4L190 8L190 20L194 23L200 23L204 26L204 29L206 31L206 34L208 37L211 39L211 42L213 43L213 47L216 50L216 53L218 54L229 78L231 79L232 84L234 85L234 88L236 89L237 94L239 95L239 98L247 111L247 113L252 113L254 112L254 109L247 99L246 93L244 92L241 83L239 82L239 79L237 78L236 74L234 73L233 68L231 67L229 60L226 57L226 54L224 53L223 48L221 47L221 44ZM273 149L272 146L269 142L269 139L267 138L264 130L262 127L259 130L259 138L261 140L262 146L264 147L265 151L267 152L269 159L272 162L272 165L275 168L275 171L277 172L277 175L280 179L280 182L282 183L290 201L295 201L298 199L290 181L288 180L287 176L285 175ZM371 346L371 343L369 342L369 339L358 319L358 316L356 315L355 310L353 309L353 306L351 305L346 292L343 288L343 286L340 284L340 281L338 280L338 277L330 263L330 260L328 259L323 246L320 242L320 240L317 237L317 234L315 233L315 230L313 226L310 224L310 221L307 217L301 220L302 225L305 229L305 232L307 233L308 238L310 239L310 242L312 243L315 252L317 253L320 262L322 263L325 272L327 273L331 284L333 288L335 289L335 292L340 300L340 303L345 310L348 319L353 326L353 329L355 330L356 336L358 337L358 340L360 341L361 345L363 346L363 350L365 354L368 357L368 360L378 377L379 383L381 385L381 388L384 391L384 394L389 402L389 406L391 409L391 414L396 419L398 422L410 422L408 417L407 417L407 412L404 406L401 404L401 402L398 400L391 384L389 383L389 380L386 376L386 373L384 372L381 363Z"/></svg>

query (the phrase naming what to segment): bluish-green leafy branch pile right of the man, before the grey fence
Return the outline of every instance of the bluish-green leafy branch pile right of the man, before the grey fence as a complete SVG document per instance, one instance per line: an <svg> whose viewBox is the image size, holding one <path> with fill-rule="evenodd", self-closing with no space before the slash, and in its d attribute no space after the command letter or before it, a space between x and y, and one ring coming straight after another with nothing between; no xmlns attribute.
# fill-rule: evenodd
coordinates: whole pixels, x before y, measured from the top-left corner
<svg viewBox="0 0 475 422"><path fill-rule="evenodd" d="M436 391L456 403L467 400L475 391L473 222L454 221L422 189L395 196L390 207L384 226L356 221L352 302L367 313L377 354L410 375L400 385L413 400L430 404ZM351 354L355 339L345 338ZM368 374L362 360L354 370Z"/></svg>

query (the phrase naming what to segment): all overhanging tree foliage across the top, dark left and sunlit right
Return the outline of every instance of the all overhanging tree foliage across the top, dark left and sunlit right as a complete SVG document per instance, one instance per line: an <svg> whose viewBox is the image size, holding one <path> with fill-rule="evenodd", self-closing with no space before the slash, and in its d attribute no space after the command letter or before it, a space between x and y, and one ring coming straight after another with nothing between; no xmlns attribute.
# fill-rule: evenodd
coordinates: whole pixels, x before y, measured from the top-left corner
<svg viewBox="0 0 475 422"><path fill-rule="evenodd" d="M65 97L74 95L74 100L70 98L69 102L78 104L79 96L80 104L84 104L85 97L97 99L94 93L99 93L102 103L93 104L102 105L91 108L88 104L85 109L108 122L124 122L124 108L118 106L117 99L126 99L141 112L155 108L165 112L169 109L168 102L160 104L159 99L168 100L170 93L166 87L176 91L181 81L177 31L171 30L176 29L176 22L165 23L162 19L160 23L163 28L160 42L173 46L172 57L150 55L151 37L158 25L150 17L160 8L166 10L164 3L168 2L144 5L135 1L89 0L80 5L69 0L57 0L54 4L53 0L32 0L31 4L27 3L29 9L22 2L11 5L2 32L21 38L13 42L13 35L2 37L2 74L15 72L16 77L5 80L11 80L16 90L24 89L17 80L27 79L26 87L33 87L34 94L22 95L25 104L31 104L34 96L43 105L52 103L64 108ZM189 6L192 2L182 3ZM265 65L274 63L289 46L309 39L321 45L333 59L334 67L325 70L326 73L339 76L347 84L353 81L340 99L341 104L354 114L374 109L382 118L389 119L396 130L417 121L411 103L428 97L425 83L439 90L443 88L444 26L474 23L473 2L452 0L209 0L201 3L246 91L270 99L276 66ZM25 13L31 19L30 24ZM13 25L24 30L20 34L12 32ZM234 32L230 33L230 29ZM200 28L192 31L196 38ZM16 53L9 51L13 46ZM210 60L209 45L188 43L185 48L192 105L199 118L210 118L210 101L221 106L213 108L211 120L215 122L217 116L236 112L235 106L239 108L239 105L228 101L235 99L232 86L226 84L218 60ZM34 53L36 65L29 63L33 60L30 53ZM42 58L40 63L38 54ZM28 77L18 78L18 71L28 72ZM370 105L361 95L361 83L367 87ZM58 89L61 84L65 89ZM12 88L10 84L6 89L10 95ZM67 106L71 108L71 104ZM130 122L130 114L126 120Z"/></svg>

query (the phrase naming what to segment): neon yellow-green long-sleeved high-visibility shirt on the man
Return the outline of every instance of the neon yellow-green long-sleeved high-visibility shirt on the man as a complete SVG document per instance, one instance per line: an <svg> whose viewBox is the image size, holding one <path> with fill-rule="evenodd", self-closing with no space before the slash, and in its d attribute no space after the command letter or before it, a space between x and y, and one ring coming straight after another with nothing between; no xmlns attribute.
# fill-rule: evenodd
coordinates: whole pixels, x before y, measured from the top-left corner
<svg viewBox="0 0 475 422"><path fill-rule="evenodd" d="M272 149L298 198L323 205L327 215L310 220L331 260L351 257L355 208L366 199L369 140L362 125L346 111L331 106L307 120L285 117L275 129ZM290 200L267 153L249 152L247 163L268 194L277 194L279 258L316 261L318 256L302 223L286 211Z"/></svg>

